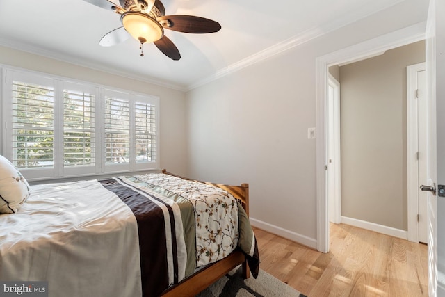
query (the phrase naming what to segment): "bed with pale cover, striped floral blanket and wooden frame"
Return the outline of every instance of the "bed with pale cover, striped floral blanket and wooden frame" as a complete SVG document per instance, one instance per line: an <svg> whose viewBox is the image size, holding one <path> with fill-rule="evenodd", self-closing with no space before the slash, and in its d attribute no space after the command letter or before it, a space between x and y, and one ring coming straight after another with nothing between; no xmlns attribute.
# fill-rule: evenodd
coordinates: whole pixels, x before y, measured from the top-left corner
<svg viewBox="0 0 445 297"><path fill-rule="evenodd" d="M3 203L14 213L0 214L2 281L47 281L49 296L195 296L240 264L245 278L257 276L248 184L165 170L31 187L15 180L31 195Z"/></svg>

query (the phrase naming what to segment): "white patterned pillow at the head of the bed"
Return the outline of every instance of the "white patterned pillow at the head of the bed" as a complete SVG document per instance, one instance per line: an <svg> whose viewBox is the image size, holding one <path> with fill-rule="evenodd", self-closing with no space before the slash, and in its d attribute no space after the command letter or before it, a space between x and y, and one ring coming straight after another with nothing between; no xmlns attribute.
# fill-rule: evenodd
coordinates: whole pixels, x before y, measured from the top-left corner
<svg viewBox="0 0 445 297"><path fill-rule="evenodd" d="M29 197L29 184L8 159L0 155L0 214L13 214Z"/></svg>

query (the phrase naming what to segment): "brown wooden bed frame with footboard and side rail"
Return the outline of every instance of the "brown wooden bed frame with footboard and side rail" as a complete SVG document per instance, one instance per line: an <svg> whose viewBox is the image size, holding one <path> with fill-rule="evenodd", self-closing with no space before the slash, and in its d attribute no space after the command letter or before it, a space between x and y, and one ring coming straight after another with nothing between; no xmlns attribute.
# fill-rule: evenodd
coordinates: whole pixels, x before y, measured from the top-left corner
<svg viewBox="0 0 445 297"><path fill-rule="evenodd" d="M180 177L179 175L174 175L167 170L163 169L162 173L172 175L175 177ZM181 177L182 179L188 179L186 177ZM194 180L194 179L188 179ZM194 180L195 182L200 182ZM223 188L223 190L234 195L234 198L241 201L241 205L245 209L246 214L249 216L249 185L241 184L241 186L228 186L226 184L213 184L211 182L202 182L203 184L209 184L211 186L217 186L218 188ZM163 291L162 296L195 296L200 293L200 291L209 287L213 282L223 277L236 266L243 264L243 278L249 278L249 267L245 259L245 256L241 250L235 250L229 256L221 259L218 262L209 264L199 271L193 273L188 278L170 286L168 289Z"/></svg>

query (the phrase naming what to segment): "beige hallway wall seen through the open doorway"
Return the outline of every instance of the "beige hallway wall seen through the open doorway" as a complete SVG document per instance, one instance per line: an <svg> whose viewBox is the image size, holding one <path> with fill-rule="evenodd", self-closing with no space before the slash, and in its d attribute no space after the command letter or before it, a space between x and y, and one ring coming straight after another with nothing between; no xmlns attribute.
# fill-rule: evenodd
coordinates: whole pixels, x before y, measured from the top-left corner
<svg viewBox="0 0 445 297"><path fill-rule="evenodd" d="M406 67L425 42L340 67L341 216L407 230Z"/></svg>

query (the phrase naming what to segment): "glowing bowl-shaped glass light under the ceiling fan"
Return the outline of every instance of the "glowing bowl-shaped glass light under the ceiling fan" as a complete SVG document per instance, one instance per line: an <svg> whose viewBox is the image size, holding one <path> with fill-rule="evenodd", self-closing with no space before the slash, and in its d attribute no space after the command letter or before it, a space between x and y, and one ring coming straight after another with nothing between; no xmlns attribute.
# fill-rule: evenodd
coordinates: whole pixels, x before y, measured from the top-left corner
<svg viewBox="0 0 445 297"><path fill-rule="evenodd" d="M164 29L156 19L138 13L136 11L127 11L120 17L125 30L138 42L155 42L164 35Z"/></svg>

